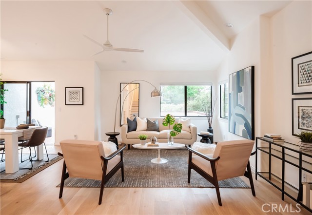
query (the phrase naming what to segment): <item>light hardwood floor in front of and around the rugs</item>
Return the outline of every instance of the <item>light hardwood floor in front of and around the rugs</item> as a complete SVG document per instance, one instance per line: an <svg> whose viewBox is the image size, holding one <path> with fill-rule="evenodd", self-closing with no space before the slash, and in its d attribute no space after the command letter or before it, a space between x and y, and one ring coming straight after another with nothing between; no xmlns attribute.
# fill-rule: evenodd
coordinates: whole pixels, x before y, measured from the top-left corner
<svg viewBox="0 0 312 215"><path fill-rule="evenodd" d="M49 153L60 151L48 146ZM22 183L1 183L1 215L310 215L262 179L254 179L256 197L250 189L220 189L223 206L212 188L64 188L59 199L62 160ZM126 174L126 173L125 173ZM125 175L125 179L127 176ZM245 180L245 178L243 178ZM245 180L249 184L248 180ZM262 205L266 204L262 211ZM269 211L272 204L288 210ZM290 208L292 204L292 208ZM292 209L292 210L291 210Z"/></svg>

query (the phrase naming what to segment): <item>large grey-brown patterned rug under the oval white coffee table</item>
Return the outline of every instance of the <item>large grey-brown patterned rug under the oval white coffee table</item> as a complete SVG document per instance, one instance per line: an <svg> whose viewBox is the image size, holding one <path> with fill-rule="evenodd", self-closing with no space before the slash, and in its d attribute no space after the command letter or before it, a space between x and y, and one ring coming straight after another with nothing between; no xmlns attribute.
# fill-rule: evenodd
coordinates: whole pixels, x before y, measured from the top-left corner
<svg viewBox="0 0 312 215"><path fill-rule="evenodd" d="M160 156L168 160L155 164L157 150L124 150L125 181L121 181L121 171L105 184L105 187L214 187L210 182L191 172L191 183L187 183L188 151L186 149L161 150ZM82 178L67 178L65 187L100 187L101 181ZM59 185L58 185L59 187ZM250 188L241 178L219 181L220 188Z"/></svg>

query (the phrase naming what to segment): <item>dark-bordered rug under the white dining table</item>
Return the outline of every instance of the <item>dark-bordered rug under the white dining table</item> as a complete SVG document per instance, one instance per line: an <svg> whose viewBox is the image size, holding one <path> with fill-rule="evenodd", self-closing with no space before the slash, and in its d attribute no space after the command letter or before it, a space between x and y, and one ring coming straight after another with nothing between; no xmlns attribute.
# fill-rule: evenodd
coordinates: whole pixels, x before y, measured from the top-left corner
<svg viewBox="0 0 312 215"><path fill-rule="evenodd" d="M29 157L28 154L23 155L23 160L27 159ZM35 157L36 158L36 157ZM33 159L35 159L33 158ZM38 162L33 161L33 169L32 170L24 170L20 169L16 173L8 173L6 174L3 170L5 169L5 162L0 163L0 171L3 171L0 173L0 182L23 182L26 179L30 178L31 176L36 175L40 171L44 170L45 168L51 166L52 164L56 163L63 157L58 156L57 154L49 154L49 162ZM46 155L44 155L43 160L46 160ZM19 162L20 162L20 155L19 155ZM19 167L26 167L30 168L31 163L29 160L25 160L24 162L19 163Z"/></svg>

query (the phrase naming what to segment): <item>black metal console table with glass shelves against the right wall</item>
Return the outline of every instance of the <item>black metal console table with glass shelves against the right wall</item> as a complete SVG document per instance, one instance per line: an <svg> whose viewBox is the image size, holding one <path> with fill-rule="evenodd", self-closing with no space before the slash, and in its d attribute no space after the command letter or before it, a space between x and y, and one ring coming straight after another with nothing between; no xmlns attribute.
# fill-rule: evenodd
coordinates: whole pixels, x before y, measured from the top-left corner
<svg viewBox="0 0 312 215"><path fill-rule="evenodd" d="M258 141L262 142L259 144ZM302 207L312 212L312 209L308 208L306 205L302 204L302 171L312 174L312 153L305 152L300 149L298 145L284 142L283 144L271 142L262 137L256 137L255 140L256 154L255 154L255 179L257 180L257 176L260 176L270 184L272 184L275 188L282 192L282 200L284 200L284 196L289 196L292 200L299 203ZM258 152L263 152L269 156L269 172L258 172L257 162L258 162ZM282 178L274 175L271 172L272 165L272 157L275 157L282 161ZM309 160L310 159L310 160ZM299 189L293 187L291 184L285 181L285 163L288 163L299 169ZM274 176L281 180L281 186L278 186L271 180L271 177ZM294 190L298 191L298 195L296 197L290 195L287 191L285 191L285 184L291 186Z"/></svg>

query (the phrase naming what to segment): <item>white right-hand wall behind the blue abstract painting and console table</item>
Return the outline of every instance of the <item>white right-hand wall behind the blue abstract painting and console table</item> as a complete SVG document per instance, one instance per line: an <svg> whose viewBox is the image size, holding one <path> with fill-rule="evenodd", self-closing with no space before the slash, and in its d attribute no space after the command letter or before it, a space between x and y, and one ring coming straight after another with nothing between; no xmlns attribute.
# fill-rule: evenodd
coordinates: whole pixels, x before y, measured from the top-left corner
<svg viewBox="0 0 312 215"><path fill-rule="evenodd" d="M259 17L232 41L232 49L218 70L217 81L254 65L255 137L279 133L288 142L292 136L291 58L312 50L311 1L293 1L271 19ZM218 129L225 139L242 138L228 132L228 122L218 120ZM221 138L221 137L218 137ZM221 138L222 139L222 138ZM267 170L267 156L260 156L258 170ZM251 158L254 167L255 158ZM297 170L286 166L286 181L298 186ZM273 172L280 176L281 164L273 160Z"/></svg>

